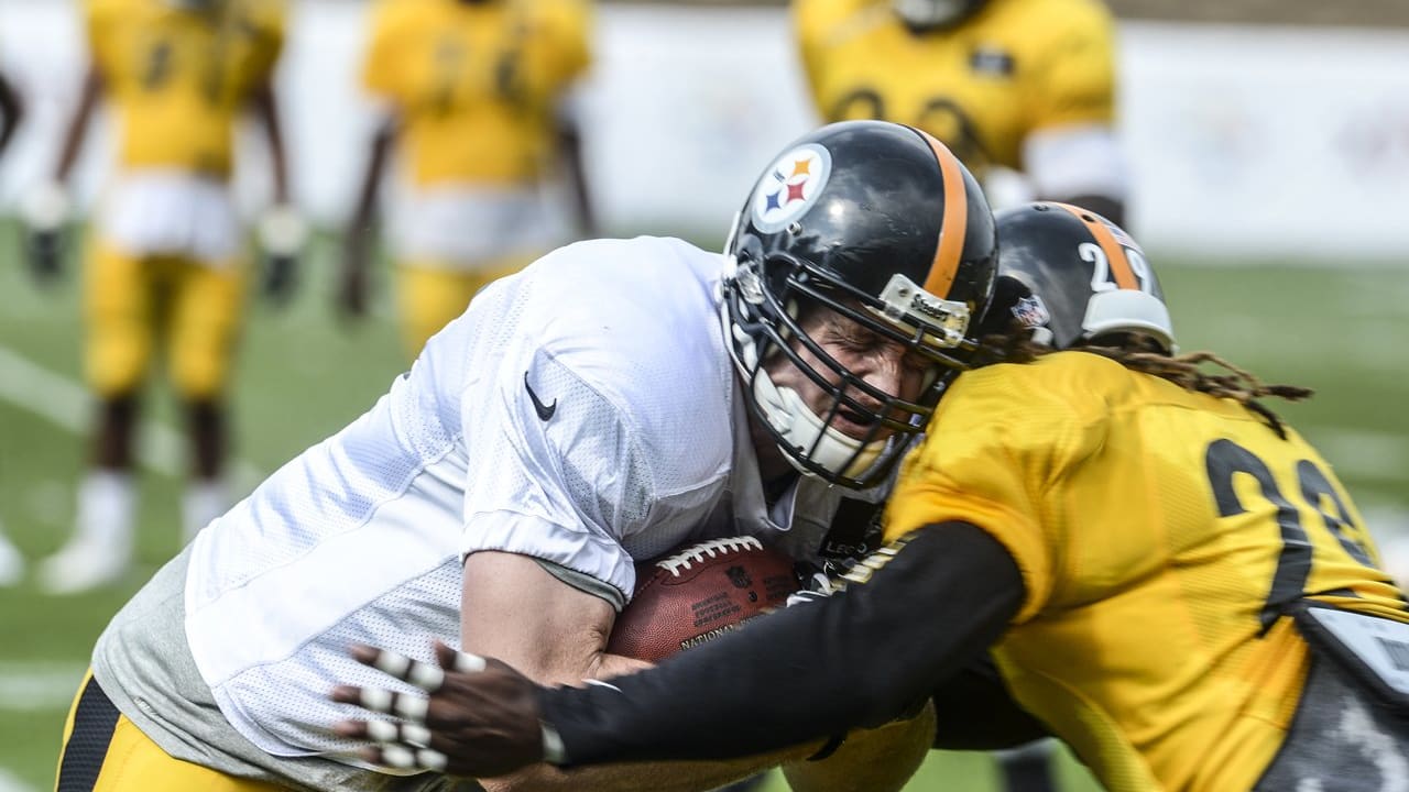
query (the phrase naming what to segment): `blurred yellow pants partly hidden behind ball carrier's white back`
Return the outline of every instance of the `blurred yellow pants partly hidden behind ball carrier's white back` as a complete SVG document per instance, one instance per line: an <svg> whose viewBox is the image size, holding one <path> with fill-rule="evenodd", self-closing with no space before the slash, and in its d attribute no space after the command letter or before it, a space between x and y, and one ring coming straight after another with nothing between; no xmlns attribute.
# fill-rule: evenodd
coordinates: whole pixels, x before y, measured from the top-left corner
<svg viewBox="0 0 1409 792"><path fill-rule="evenodd" d="M397 310L402 337L411 358L431 335L465 313L473 297L489 283L519 272L537 256L506 258L483 269L464 271L427 261L406 261L397 269Z"/></svg>

